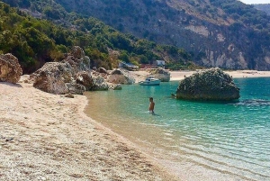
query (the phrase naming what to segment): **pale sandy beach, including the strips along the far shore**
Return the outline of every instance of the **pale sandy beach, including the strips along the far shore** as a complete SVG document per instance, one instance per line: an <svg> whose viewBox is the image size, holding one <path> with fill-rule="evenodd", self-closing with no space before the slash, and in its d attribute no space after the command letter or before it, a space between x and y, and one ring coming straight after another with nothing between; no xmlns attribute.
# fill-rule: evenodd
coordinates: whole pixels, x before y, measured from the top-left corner
<svg viewBox="0 0 270 181"><path fill-rule="evenodd" d="M229 71L232 77L270 72ZM148 72L131 73L138 82ZM171 80L193 71L172 71ZM23 77L25 78L25 77ZM84 113L87 99L0 83L0 180L183 180Z"/></svg>

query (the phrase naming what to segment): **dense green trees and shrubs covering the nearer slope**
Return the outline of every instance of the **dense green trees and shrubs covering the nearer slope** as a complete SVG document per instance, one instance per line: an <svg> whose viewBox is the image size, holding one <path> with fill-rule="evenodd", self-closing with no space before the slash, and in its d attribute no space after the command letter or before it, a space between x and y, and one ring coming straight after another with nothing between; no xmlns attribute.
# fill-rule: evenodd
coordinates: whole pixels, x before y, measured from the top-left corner
<svg viewBox="0 0 270 181"><path fill-rule="evenodd" d="M43 12L41 18L48 16L58 19L65 16L68 19L68 22L59 23L65 26L60 26L0 3L0 51L13 53L23 66L23 73L31 73L47 61L63 59L63 53L74 45L85 50L92 67L116 68L118 60L138 65L165 57L170 68L193 66L190 54L183 49L138 39L94 18L67 14L63 9L57 14L51 13L56 9L51 6L53 1L34 1L36 4L29 0L12 2L14 6L40 8L39 11Z"/></svg>

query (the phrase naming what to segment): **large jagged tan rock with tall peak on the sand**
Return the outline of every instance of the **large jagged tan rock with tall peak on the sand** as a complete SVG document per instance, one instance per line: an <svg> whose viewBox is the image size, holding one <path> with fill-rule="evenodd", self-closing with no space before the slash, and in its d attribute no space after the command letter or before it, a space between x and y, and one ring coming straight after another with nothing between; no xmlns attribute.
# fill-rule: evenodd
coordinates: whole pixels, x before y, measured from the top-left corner
<svg viewBox="0 0 270 181"><path fill-rule="evenodd" d="M31 74L31 80L34 87L48 93L82 95L85 86L91 86L92 83L91 77L87 75L90 75L90 59L85 56L84 50L74 47L66 59L48 62Z"/></svg>

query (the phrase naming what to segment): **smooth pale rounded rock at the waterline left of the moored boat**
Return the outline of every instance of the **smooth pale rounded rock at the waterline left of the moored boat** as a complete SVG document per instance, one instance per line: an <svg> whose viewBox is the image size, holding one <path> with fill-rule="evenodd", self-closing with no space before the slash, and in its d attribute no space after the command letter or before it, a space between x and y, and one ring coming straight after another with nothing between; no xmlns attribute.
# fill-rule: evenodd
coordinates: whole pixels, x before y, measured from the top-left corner
<svg viewBox="0 0 270 181"><path fill-rule="evenodd" d="M107 81L113 84L131 85L135 83L135 78L130 76L129 71L124 69L114 69Z"/></svg>

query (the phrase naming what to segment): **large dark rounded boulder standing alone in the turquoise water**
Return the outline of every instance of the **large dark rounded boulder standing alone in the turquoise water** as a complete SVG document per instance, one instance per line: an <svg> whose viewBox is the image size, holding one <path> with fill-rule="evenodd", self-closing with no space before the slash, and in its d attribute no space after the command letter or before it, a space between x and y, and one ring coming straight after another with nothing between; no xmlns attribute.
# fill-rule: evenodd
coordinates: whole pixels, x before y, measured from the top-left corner
<svg viewBox="0 0 270 181"><path fill-rule="evenodd" d="M239 97L239 88L220 68L202 70L185 77L176 91L176 98L186 100L229 101Z"/></svg>

